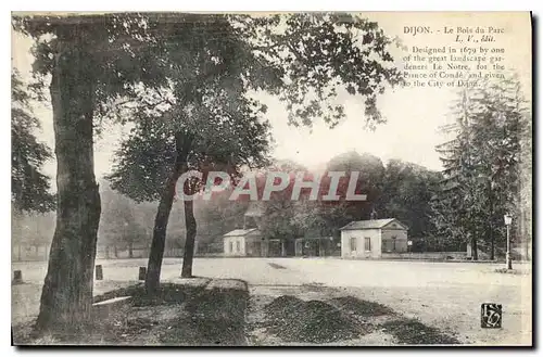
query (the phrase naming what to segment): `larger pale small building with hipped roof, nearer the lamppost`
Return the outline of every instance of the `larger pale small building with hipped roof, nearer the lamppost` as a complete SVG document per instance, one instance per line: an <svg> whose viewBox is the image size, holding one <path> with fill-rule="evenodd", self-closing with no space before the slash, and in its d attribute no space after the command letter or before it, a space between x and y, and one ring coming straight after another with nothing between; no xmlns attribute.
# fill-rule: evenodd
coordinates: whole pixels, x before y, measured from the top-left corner
<svg viewBox="0 0 543 357"><path fill-rule="evenodd" d="M407 226L395 218L352 221L341 231L341 257L380 258L407 252Z"/></svg>

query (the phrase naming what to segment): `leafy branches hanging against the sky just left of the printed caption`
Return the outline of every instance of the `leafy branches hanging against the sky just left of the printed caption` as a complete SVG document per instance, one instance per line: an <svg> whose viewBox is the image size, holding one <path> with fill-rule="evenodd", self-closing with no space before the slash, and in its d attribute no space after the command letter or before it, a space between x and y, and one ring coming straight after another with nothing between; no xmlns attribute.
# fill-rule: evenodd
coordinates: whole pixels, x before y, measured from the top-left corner
<svg viewBox="0 0 543 357"><path fill-rule="evenodd" d="M402 78L388 52L392 40L376 22L340 13L243 20L241 28L257 42L257 59L267 59L282 74L279 95L288 103L291 124L311 126L314 118L338 124L344 116L334 103L341 89L365 98L366 124L384 122L377 95Z"/></svg>

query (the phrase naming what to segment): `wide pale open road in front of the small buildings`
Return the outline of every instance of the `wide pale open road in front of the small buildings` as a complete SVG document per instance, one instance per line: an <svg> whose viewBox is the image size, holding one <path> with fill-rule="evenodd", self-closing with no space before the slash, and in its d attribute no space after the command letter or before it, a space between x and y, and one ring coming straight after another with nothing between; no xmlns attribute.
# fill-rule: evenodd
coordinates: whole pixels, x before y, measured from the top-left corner
<svg viewBox="0 0 543 357"><path fill-rule="evenodd" d="M146 259L98 260L104 280L137 280ZM162 280L179 277L181 259L165 259ZM200 277L243 279L251 285L324 284L386 304L475 344L529 344L531 275L495 272L502 265L344 260L339 258L195 258ZM517 265L525 271L528 265ZM41 283L45 263L14 263L24 280ZM503 329L480 328L482 303L503 305Z"/></svg>

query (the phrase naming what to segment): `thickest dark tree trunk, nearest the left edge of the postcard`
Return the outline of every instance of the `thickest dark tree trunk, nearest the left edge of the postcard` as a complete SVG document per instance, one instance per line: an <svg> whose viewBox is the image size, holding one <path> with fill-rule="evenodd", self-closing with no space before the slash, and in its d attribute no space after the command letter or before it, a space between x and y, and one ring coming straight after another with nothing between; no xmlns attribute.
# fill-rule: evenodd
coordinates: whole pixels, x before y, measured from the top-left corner
<svg viewBox="0 0 543 357"><path fill-rule="evenodd" d="M75 46L56 56L51 100L56 154L56 228L41 293L38 331L77 331L90 318L100 195L94 179L90 56Z"/></svg>

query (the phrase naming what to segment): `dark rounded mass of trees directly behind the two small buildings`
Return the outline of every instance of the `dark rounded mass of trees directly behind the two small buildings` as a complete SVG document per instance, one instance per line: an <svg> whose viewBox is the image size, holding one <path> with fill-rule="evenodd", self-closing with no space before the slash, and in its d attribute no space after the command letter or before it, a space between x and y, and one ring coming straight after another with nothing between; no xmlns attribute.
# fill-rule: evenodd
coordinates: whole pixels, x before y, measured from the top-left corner
<svg viewBox="0 0 543 357"><path fill-rule="evenodd" d="M288 174L307 173L302 165L279 162L269 171L282 170ZM294 175L289 186L274 192L269 201L258 203L262 214L260 227L264 237L294 239L303 235L339 235L339 228L353 220L394 217L409 227L409 235L427 239L434 233L430 221L430 199L435 194L442 177L440 173L421 166L391 160L383 165L380 158L370 154L348 152L333 157L323 175L345 171L346 176L338 184L338 201L302 200L291 201ZM358 171L356 194L365 194L365 201L345 200L350 173ZM317 175L317 174L315 174ZM306 179L312 179L307 175ZM260 183L260 184L258 184ZM266 183L266 171L257 184ZM321 179L319 196L328 193L330 181ZM302 190L302 194L308 194Z"/></svg>

